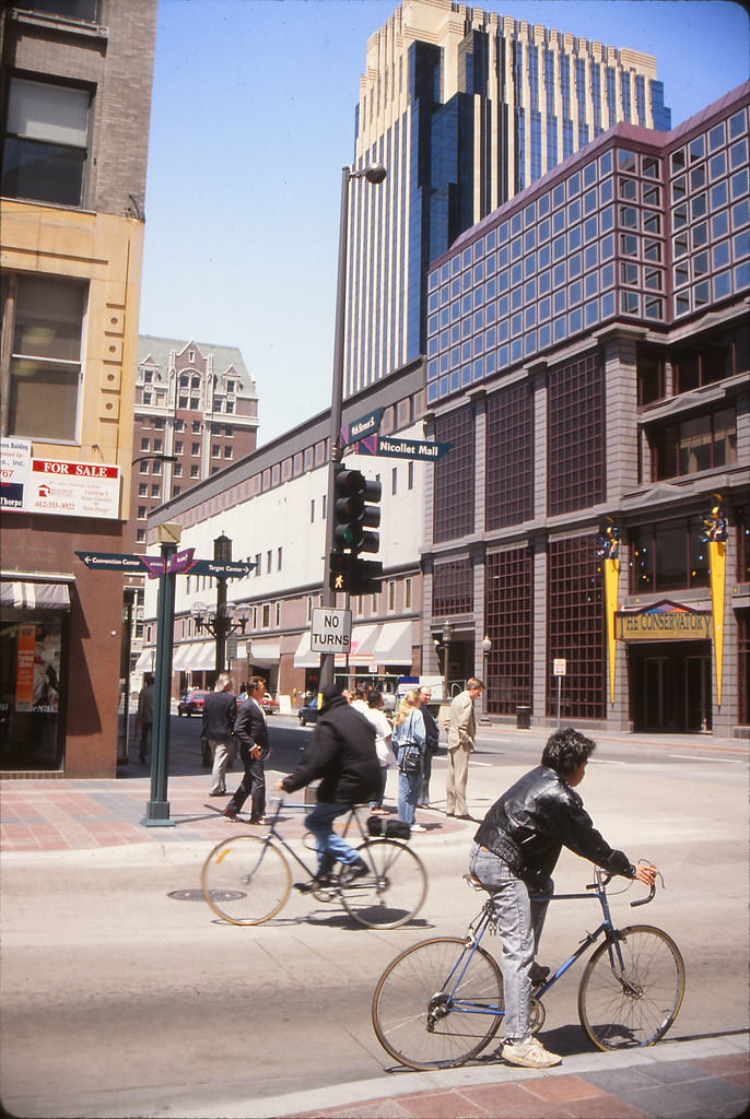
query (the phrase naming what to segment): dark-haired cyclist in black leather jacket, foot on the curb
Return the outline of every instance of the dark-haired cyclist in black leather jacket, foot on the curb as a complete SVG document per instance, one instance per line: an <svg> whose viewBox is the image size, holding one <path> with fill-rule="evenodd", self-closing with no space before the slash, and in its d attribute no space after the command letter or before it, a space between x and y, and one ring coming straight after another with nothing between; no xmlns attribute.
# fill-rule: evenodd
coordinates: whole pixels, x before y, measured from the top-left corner
<svg viewBox="0 0 750 1119"><path fill-rule="evenodd" d="M516 781L495 801L474 837L469 868L493 897L503 941L505 997L503 1059L527 1069L547 1069L561 1057L549 1053L529 1028L532 986L544 982L549 968L534 962L547 902L550 877L563 847L610 874L638 878L649 887L656 868L634 866L613 850L594 828L576 792L596 744L568 727L553 734L542 764Z"/></svg>

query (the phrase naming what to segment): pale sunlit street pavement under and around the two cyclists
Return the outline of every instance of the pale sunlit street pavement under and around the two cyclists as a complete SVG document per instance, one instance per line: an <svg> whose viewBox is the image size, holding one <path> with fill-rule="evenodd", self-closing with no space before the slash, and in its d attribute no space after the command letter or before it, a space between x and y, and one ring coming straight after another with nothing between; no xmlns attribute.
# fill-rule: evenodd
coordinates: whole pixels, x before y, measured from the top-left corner
<svg viewBox="0 0 750 1119"><path fill-rule="evenodd" d="M253 1116L272 1113L262 1101L276 1107L289 1093L340 1092L386 1073L406 1083L372 1029L377 976L415 941L460 934L480 904L462 881L474 826L440 811L444 755L434 765L438 810L421 814L428 831L412 839L430 886L411 925L360 929L338 906L292 892L269 923L237 928L216 919L198 890L204 858L231 827L207 797L199 724L171 723L170 797L180 812L194 809L186 819L209 819L204 838L195 828L189 840L178 828L168 837L149 829L125 845L3 856L4 1106L38 1117ZM269 786L310 733L291 718L272 721ZM536 764L545 736L480 730L469 778L475 816ZM629 909L634 888L615 897L615 919L659 925L686 961L669 1040L747 1031L747 746L709 737L599 742L580 789L587 808L613 846L655 862L666 885L647 909ZM126 770L119 788L146 791L138 763ZM235 770L231 789L236 779ZM394 792L392 773L392 802ZM302 850L302 812L285 815ZM563 854L557 890L578 891L589 877L587 864ZM593 904L551 906L543 962L559 963L597 923ZM542 1034L572 1064L592 1059L578 1024L580 975L579 966L546 996ZM486 1075L486 1063L476 1068Z"/></svg>

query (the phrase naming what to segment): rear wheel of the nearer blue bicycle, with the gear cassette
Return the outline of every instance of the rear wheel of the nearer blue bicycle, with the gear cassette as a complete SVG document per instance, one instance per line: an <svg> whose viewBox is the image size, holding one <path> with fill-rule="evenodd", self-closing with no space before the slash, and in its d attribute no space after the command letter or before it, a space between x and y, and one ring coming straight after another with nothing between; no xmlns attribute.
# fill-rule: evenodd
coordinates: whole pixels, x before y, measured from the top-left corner
<svg viewBox="0 0 750 1119"><path fill-rule="evenodd" d="M386 1053L410 1069L452 1069L493 1040L503 1017L495 959L460 937L406 949L377 981L373 1026Z"/></svg>

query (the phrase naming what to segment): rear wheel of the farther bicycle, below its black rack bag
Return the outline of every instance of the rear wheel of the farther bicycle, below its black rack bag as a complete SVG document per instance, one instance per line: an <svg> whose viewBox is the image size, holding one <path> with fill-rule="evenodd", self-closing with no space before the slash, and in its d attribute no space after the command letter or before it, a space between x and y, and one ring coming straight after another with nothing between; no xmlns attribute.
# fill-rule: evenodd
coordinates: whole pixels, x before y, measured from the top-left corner
<svg viewBox="0 0 750 1119"><path fill-rule="evenodd" d="M369 839L357 854L369 866L369 873L349 886L339 882L349 916L366 929L397 929L411 921L428 890L420 858L406 844L394 839Z"/></svg>

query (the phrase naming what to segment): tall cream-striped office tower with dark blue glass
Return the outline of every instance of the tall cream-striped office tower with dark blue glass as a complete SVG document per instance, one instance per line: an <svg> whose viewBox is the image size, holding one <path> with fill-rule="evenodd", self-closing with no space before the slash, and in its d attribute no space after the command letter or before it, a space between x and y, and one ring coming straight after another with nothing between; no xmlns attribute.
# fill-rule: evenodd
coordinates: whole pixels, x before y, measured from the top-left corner
<svg viewBox="0 0 750 1119"><path fill-rule="evenodd" d="M387 178L351 182L345 395L424 352L430 262L619 121L671 128L653 56L403 0L360 79L356 166L384 163Z"/></svg>

